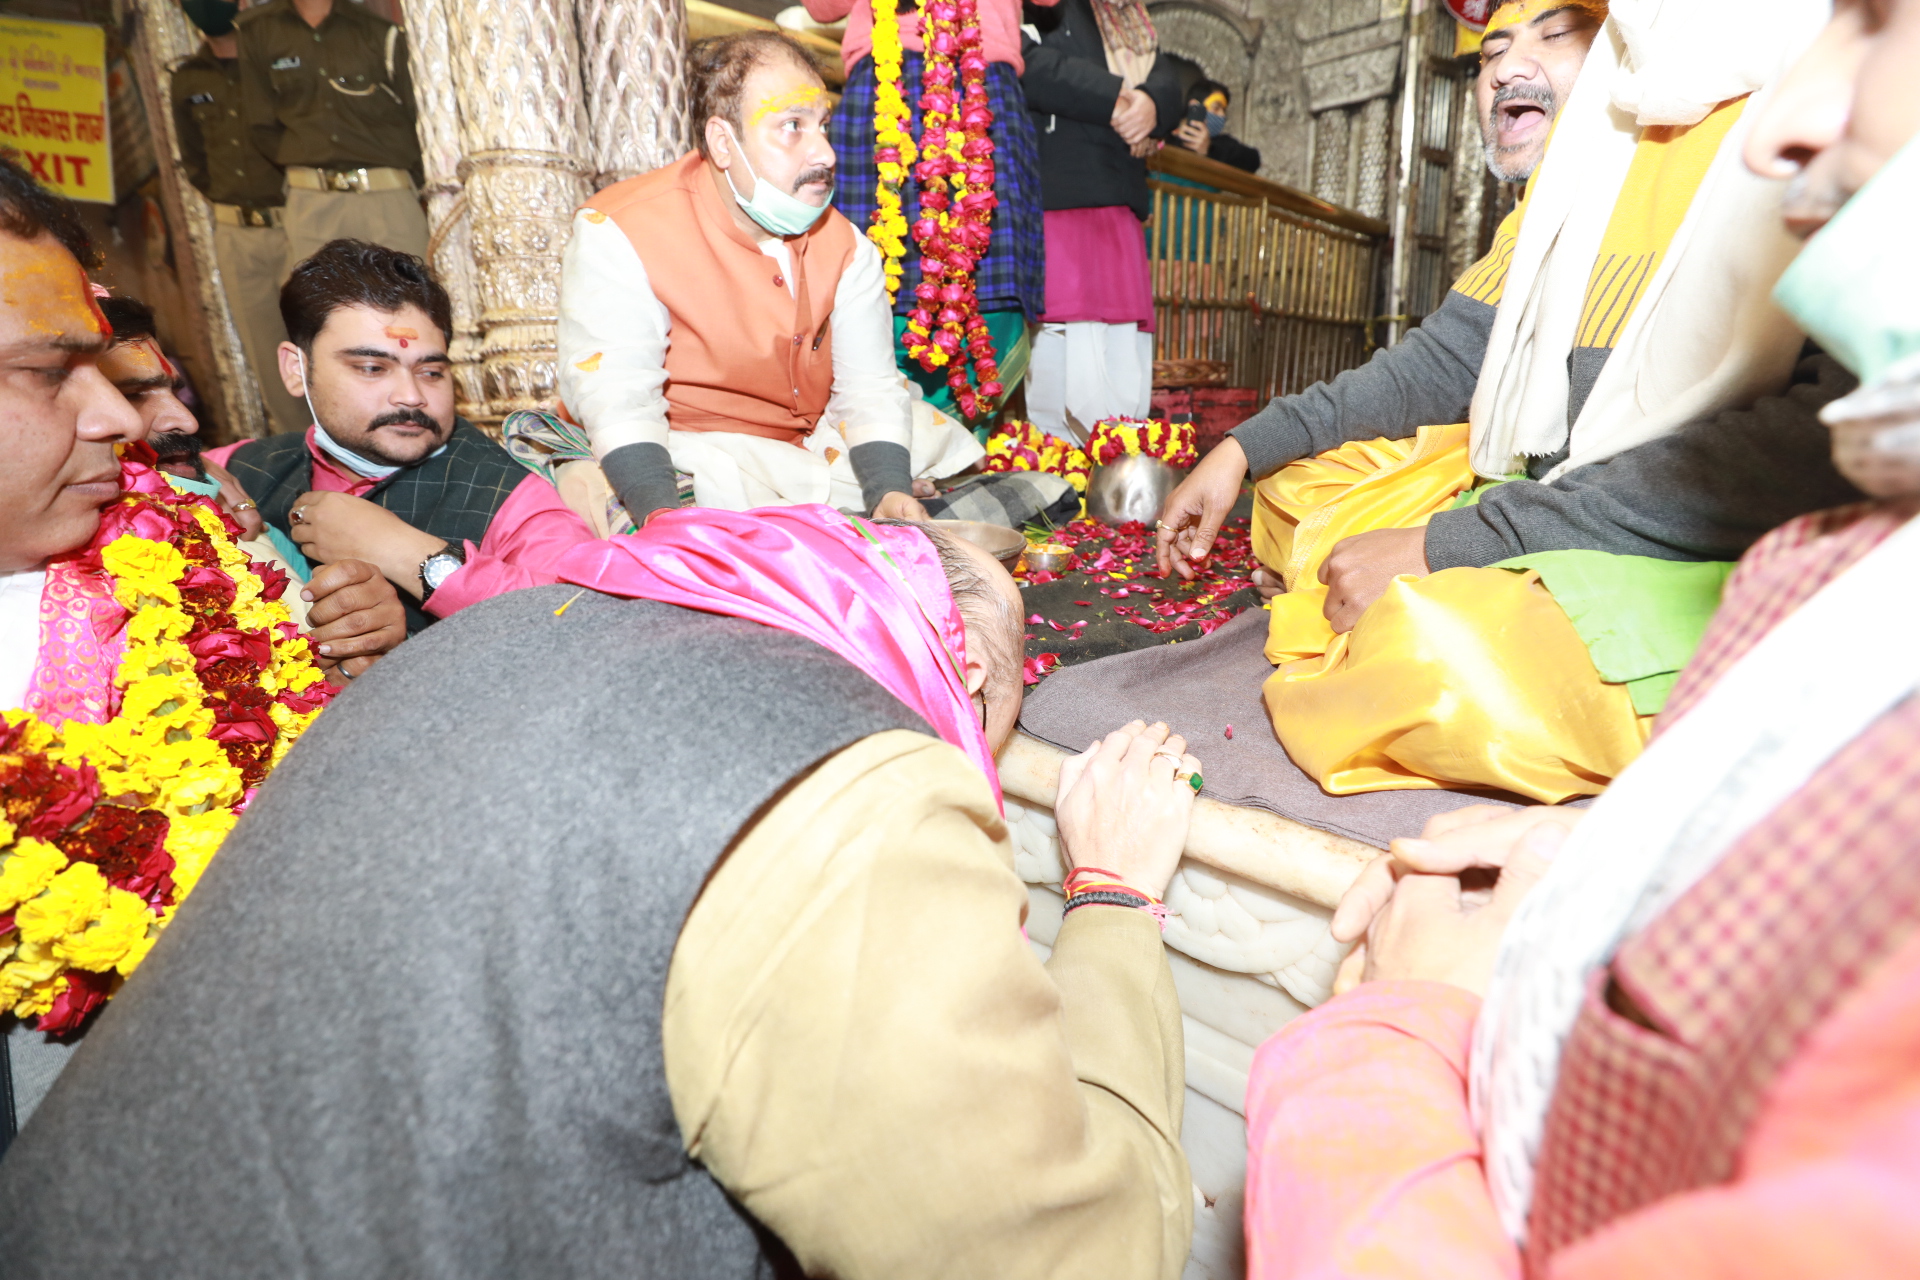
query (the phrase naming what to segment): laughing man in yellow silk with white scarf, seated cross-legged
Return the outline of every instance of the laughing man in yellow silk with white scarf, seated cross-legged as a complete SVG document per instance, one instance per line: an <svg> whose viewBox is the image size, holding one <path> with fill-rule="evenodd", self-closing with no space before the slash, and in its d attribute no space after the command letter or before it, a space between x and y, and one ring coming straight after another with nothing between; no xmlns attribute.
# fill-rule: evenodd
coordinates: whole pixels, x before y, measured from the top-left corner
<svg viewBox="0 0 1920 1280"><path fill-rule="evenodd" d="M1853 378L1768 299L1793 240L1780 182L1740 163L1749 104L1824 15L1500 4L1480 125L1524 190L1488 255L1167 501L1162 564L1190 574L1252 474L1254 551L1286 587L1265 702L1327 791L1597 794L1732 562L1859 499L1816 418Z"/></svg>

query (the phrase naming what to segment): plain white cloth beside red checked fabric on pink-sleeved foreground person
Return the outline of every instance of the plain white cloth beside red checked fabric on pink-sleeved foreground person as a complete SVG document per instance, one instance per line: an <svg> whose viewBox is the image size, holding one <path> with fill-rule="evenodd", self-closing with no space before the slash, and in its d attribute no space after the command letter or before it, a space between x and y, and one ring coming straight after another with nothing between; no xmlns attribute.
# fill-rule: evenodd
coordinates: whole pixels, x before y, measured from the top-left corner
<svg viewBox="0 0 1920 1280"><path fill-rule="evenodd" d="M1594 804L1521 904L1475 1027L1471 1071L1488 1184L1517 1242L1526 1240L1561 1050L1592 975L1914 691L1914 581L1920 522L1905 524L1728 664Z"/></svg>

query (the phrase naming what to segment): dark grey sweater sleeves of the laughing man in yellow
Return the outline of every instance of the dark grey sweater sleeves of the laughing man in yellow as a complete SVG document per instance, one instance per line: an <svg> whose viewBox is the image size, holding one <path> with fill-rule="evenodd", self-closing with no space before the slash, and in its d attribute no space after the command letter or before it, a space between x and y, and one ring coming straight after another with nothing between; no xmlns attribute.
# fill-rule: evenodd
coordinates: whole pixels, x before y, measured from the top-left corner
<svg viewBox="0 0 1920 1280"><path fill-rule="evenodd" d="M1354 439L1405 439L1432 422L1465 422L1486 359L1494 307L1450 292L1398 345L1332 382L1271 401L1233 430L1256 480ZM1578 416L1597 367L1574 380ZM1855 386L1809 344L1793 382L1747 409L1682 426L1605 462L1542 484L1486 491L1427 526L1432 570L1484 566L1536 551L1609 551L1659 560L1734 560L1793 516L1841 507L1860 491L1834 470L1820 407ZM1565 459L1534 459L1542 476Z"/></svg>

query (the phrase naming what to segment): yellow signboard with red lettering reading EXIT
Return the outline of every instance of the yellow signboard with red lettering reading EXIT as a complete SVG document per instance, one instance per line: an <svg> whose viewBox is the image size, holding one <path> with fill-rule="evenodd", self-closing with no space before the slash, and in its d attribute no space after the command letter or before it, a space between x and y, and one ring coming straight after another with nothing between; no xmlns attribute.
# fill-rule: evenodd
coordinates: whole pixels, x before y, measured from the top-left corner
<svg viewBox="0 0 1920 1280"><path fill-rule="evenodd" d="M108 33L0 17L0 155L69 200L113 203Z"/></svg>

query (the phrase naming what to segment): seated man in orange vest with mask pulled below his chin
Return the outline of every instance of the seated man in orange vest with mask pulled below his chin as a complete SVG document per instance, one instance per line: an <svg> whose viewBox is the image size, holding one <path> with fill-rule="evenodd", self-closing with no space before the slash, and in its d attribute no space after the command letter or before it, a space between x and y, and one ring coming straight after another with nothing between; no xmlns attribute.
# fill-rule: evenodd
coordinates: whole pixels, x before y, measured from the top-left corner
<svg viewBox="0 0 1920 1280"><path fill-rule="evenodd" d="M839 211L831 100L772 31L689 52L699 150L609 186L561 276L561 395L636 522L829 503L924 520L914 476L981 455L893 363L879 251ZM916 424L918 418L918 424Z"/></svg>

